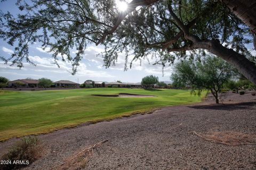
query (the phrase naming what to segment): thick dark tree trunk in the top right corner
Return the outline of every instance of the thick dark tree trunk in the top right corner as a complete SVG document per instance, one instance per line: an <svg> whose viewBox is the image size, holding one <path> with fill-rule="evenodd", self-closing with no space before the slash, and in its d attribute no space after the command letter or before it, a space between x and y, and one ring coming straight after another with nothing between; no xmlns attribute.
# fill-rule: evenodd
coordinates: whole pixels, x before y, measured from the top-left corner
<svg viewBox="0 0 256 170"><path fill-rule="evenodd" d="M221 0L221 2L250 28L254 37L254 48L256 49L256 1Z"/></svg>

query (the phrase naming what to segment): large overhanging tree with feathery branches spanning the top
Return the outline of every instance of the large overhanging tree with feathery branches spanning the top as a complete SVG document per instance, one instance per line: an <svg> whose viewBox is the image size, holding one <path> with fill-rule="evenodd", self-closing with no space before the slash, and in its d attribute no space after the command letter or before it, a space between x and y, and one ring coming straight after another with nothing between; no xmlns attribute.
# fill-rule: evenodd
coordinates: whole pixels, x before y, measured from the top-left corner
<svg viewBox="0 0 256 170"><path fill-rule="evenodd" d="M29 44L39 41L43 48L50 47L56 63L60 58L71 61L75 73L91 43L105 46L106 67L115 64L122 52L126 61L129 55L134 56L133 61L153 56L156 64L165 66L177 57L205 55L206 50L256 84L255 57L246 48L253 41L250 29L255 33L255 18L252 15L249 24L235 13L250 14L254 6L241 11L242 5L232 8L231 2L133 0L121 12L114 0L33 0L30 4L18 1L22 14L1 13L1 38L10 45L18 41L12 56L1 58L22 67L23 60L30 62ZM250 2L244 4L248 6ZM70 49L74 47L77 53L71 56Z"/></svg>

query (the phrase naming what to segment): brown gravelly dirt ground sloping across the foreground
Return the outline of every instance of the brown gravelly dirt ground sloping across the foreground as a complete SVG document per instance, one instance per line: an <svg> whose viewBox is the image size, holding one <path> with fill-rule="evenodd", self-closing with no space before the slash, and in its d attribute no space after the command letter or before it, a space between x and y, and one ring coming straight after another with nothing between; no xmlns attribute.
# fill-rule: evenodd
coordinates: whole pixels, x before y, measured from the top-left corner
<svg viewBox="0 0 256 170"><path fill-rule="evenodd" d="M256 141L251 138L256 134L256 96L230 93L221 100L224 104L213 103L209 97L197 105L40 135L44 155L25 169L51 169L107 139L85 154L86 162L78 169L256 169ZM231 139L218 141L222 132ZM0 143L0 155L15 141Z"/></svg>

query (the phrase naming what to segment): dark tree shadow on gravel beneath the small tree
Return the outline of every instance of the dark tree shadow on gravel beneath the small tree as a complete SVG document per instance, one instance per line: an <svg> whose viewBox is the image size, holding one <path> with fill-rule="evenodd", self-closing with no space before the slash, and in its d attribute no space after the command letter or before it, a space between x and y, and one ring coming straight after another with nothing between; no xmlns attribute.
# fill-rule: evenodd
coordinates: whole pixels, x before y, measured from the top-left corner
<svg viewBox="0 0 256 170"><path fill-rule="evenodd" d="M195 108L195 109L234 111L234 110L244 110L244 109L254 110L255 106L256 106L256 102L252 101L252 102L236 103L236 104L196 105L196 106L188 106L188 107Z"/></svg>

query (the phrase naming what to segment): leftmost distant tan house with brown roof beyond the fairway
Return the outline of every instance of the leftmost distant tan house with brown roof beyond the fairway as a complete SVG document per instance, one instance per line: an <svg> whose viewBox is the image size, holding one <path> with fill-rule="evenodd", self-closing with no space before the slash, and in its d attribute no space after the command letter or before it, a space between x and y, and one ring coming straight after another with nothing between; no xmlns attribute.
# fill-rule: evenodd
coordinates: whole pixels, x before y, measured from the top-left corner
<svg viewBox="0 0 256 170"><path fill-rule="evenodd" d="M8 82L8 87L37 87L38 80L18 79Z"/></svg>

